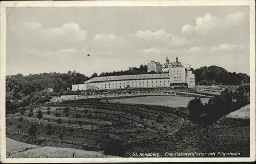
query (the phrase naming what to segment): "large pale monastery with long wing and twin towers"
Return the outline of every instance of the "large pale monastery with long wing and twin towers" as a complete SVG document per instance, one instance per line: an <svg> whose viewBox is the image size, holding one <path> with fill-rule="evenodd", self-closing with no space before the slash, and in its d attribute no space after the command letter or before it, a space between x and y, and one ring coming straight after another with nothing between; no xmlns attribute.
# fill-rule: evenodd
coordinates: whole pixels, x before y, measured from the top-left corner
<svg viewBox="0 0 256 164"><path fill-rule="evenodd" d="M152 71L156 72L152 74ZM72 91L88 89L127 89L127 88L194 88L195 74L190 65L182 65L176 57L175 62L166 63L151 61L147 65L147 72L151 74L94 77L84 84L72 85ZM162 73L163 72L163 73ZM169 72L169 73L167 73Z"/></svg>

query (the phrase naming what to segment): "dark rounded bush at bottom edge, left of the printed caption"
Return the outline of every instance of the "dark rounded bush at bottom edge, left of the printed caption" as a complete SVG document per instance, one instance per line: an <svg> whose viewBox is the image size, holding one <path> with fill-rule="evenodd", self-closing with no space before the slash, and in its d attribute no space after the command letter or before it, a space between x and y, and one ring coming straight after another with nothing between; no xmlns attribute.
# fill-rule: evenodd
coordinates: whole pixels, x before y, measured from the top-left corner
<svg viewBox="0 0 256 164"><path fill-rule="evenodd" d="M117 139L111 139L104 150L105 155L125 157L122 143Z"/></svg>

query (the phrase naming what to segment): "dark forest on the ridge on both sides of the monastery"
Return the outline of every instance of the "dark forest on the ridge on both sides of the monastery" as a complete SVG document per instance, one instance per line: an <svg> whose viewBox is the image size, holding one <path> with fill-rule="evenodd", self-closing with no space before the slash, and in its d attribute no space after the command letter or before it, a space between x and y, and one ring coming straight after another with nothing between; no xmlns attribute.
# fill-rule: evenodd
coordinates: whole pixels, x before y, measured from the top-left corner
<svg viewBox="0 0 256 164"><path fill-rule="evenodd" d="M247 74L231 73L218 66L201 67L194 70L194 72L197 85L241 85L250 83L250 77ZM100 75L93 73L90 77L76 71L30 74L28 76L20 73L8 75L6 76L6 107L16 108L18 106L28 106L32 103L45 103L53 96L72 94L70 89L73 84L82 84L94 77L146 73L147 65L140 65L139 68L129 67L125 71L102 72ZM52 88L53 92L48 92L48 88Z"/></svg>

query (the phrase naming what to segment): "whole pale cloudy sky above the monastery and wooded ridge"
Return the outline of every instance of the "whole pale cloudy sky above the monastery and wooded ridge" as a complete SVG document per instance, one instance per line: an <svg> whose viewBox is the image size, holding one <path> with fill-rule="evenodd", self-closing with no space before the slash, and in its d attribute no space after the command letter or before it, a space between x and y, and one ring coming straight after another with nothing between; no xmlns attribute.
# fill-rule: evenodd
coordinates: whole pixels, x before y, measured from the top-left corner
<svg viewBox="0 0 256 164"><path fill-rule="evenodd" d="M176 56L249 75L249 36L249 6L8 7L6 75L91 76Z"/></svg>

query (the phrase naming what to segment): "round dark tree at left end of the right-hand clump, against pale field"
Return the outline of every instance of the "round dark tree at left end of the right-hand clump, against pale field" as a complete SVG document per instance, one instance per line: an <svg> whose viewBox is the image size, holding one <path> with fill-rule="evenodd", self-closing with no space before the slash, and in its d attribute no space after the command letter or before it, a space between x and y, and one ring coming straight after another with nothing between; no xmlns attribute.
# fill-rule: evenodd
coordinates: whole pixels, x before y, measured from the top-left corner
<svg viewBox="0 0 256 164"><path fill-rule="evenodd" d="M204 105L200 98L195 97L194 99L190 100L188 103L188 111L190 114L191 119L196 120L202 114Z"/></svg>

